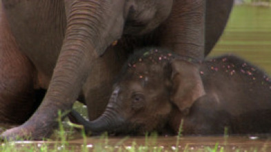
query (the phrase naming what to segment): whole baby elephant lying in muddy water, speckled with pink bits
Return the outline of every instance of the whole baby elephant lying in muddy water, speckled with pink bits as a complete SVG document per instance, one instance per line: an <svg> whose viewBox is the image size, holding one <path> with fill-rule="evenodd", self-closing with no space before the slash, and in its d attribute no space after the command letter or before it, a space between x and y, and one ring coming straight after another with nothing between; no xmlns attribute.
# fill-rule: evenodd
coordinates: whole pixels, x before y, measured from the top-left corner
<svg viewBox="0 0 271 152"><path fill-rule="evenodd" d="M186 70L194 65L199 71ZM200 80L194 78L199 73L203 84L191 81ZM130 57L113 89L97 120L88 122L72 111L86 131L178 133L182 120L184 135L223 134L225 127L239 134L271 131L270 80L237 56L197 63L167 50L144 49Z"/></svg>

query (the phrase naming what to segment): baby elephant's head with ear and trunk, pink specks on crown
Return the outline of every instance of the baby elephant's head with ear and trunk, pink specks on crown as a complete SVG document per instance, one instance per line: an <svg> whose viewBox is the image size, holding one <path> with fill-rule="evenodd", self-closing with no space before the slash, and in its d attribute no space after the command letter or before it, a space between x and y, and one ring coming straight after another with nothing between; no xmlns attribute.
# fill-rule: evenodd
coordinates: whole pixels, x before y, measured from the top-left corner
<svg viewBox="0 0 271 152"><path fill-rule="evenodd" d="M88 123L92 132L159 131L173 107L185 115L203 96L197 64L166 50L148 49L130 57L114 84L103 115Z"/></svg>

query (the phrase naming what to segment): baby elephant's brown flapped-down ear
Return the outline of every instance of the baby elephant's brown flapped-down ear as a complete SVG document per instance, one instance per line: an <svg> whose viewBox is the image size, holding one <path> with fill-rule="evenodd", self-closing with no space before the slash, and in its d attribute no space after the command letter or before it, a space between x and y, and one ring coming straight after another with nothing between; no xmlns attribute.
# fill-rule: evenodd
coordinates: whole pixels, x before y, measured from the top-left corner
<svg viewBox="0 0 271 152"><path fill-rule="evenodd" d="M205 95L199 65L188 61L172 61L172 95L171 100L183 114L189 112L197 98Z"/></svg>

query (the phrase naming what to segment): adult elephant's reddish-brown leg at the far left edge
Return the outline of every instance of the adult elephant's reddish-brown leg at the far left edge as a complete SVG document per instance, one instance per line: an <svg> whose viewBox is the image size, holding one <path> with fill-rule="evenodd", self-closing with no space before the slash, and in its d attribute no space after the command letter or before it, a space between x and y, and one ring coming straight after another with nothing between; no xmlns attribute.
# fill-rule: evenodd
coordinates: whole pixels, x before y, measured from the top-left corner
<svg viewBox="0 0 271 152"><path fill-rule="evenodd" d="M0 10L0 122L20 124L34 112L34 75ZM37 104L36 104L37 105Z"/></svg>

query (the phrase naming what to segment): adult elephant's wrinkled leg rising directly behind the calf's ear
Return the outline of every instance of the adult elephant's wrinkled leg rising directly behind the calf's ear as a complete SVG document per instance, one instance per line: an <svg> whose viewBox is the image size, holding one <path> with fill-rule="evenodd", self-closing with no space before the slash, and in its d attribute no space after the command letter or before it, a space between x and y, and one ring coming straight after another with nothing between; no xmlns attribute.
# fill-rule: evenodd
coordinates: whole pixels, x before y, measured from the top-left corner
<svg viewBox="0 0 271 152"><path fill-rule="evenodd" d="M170 17L160 27L160 43L181 56L204 58L205 0L174 1Z"/></svg>

